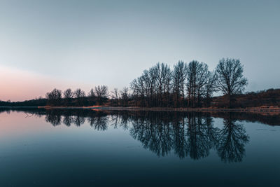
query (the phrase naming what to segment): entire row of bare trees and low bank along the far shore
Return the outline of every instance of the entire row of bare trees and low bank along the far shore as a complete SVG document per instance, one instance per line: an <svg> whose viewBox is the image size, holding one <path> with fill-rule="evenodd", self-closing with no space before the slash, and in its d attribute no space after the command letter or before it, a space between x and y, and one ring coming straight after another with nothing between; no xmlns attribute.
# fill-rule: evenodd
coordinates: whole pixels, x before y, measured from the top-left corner
<svg viewBox="0 0 280 187"><path fill-rule="evenodd" d="M179 61L173 69L165 63L155 64L130 83L130 88L109 92L106 85L92 88L87 94L76 90L57 90L46 93L46 99L0 105L18 106L141 106L141 107L246 107L278 105L279 90L242 94L248 80L243 76L243 66L237 59L222 59L214 71L204 62ZM222 97L213 97L222 92Z"/></svg>

